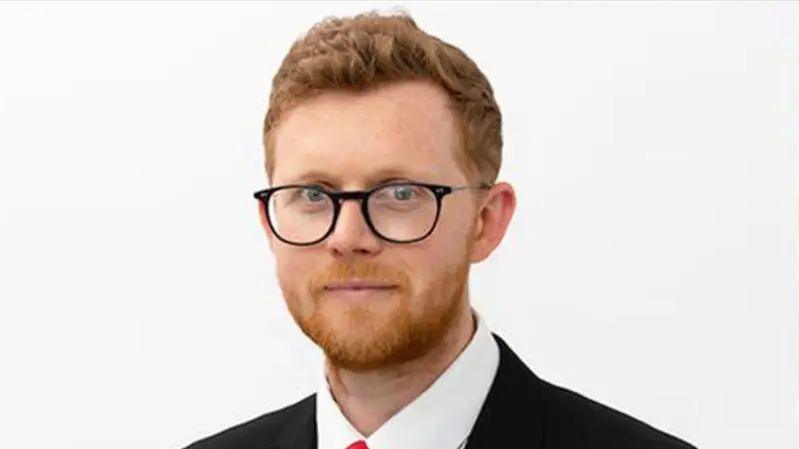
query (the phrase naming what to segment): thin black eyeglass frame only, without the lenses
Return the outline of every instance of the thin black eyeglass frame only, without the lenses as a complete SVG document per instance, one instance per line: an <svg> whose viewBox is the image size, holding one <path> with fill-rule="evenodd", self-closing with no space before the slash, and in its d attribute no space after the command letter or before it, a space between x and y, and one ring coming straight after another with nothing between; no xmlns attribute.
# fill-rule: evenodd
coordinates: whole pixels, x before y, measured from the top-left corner
<svg viewBox="0 0 799 449"><path fill-rule="evenodd" d="M408 186L408 185L409 186L423 187L423 188L426 188L426 189L430 190L431 192L433 192L433 195L436 198L436 217L433 220L433 224L430 225L430 229L421 237L418 237L418 238L415 238L415 239L411 239L411 240L395 240L395 239L392 239L392 238L388 238L388 237L384 236L383 234L381 234L375 228L374 223L372 223L372 218L369 216L369 210L368 210L369 208L367 207L367 203L368 203L369 197L373 193L375 193L375 192L377 192L377 191L379 191L381 189L385 189L386 187ZM272 224L272 218L269 216L269 199L272 197L272 195L275 192L278 192L280 190L289 189L289 188L297 188L297 187L318 187L319 191L321 193L327 195L333 201L333 219L330 222L330 227L322 235L322 237L320 237L320 238L318 238L318 239L316 239L314 241L307 242L307 243L292 242L290 240L286 240L283 237L281 237L280 233L275 230L275 226ZM363 217L363 219L366 222L366 224L369 226L369 229L376 236L380 237L381 239L383 239L383 240L385 240L387 242L391 242L391 243L414 243L414 242L418 242L418 241L426 239L427 237L430 236L430 234L433 233L433 230L435 230L436 225L438 224L438 218L441 216L441 200L445 196L449 195L450 193L457 192L457 191L460 191L460 190L466 190L466 189L486 190L486 189L490 189L490 188L491 188L491 185L488 184L488 183L481 183L481 184L476 185L476 186L446 186L446 185L441 185L441 184L428 184L428 183L424 183L424 182L402 181L402 182L391 182L391 183L387 183L387 184L380 184L380 185L377 185L377 186L375 186L375 187L373 187L373 188L371 188L369 190L329 191L329 190L325 189L323 186L321 186L319 184L287 184L287 185L283 185L283 186L276 186L276 187L270 187L270 188L267 188L267 189L259 190L259 191L255 192L255 193L253 193L253 197L255 199L257 199L257 200L260 200L262 203L264 203L264 208L265 208L264 212L266 212L266 221L269 223L269 228L272 230L272 233L275 235L275 237L278 238L278 240L280 240L283 243L287 243L289 245L295 245L295 246L316 245L317 243L323 241L328 236L330 236L330 234L336 228L336 223L338 223L338 216L339 216L339 213L341 212L341 203L344 202L344 201L348 201L348 200L358 200L358 201L360 201L360 203L361 203L361 216Z"/></svg>

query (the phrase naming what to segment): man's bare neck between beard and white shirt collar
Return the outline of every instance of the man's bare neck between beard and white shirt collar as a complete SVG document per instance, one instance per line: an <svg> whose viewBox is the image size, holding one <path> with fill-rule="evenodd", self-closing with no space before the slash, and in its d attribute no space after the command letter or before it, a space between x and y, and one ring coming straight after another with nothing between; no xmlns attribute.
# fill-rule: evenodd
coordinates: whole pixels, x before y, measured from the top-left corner
<svg viewBox="0 0 799 449"><path fill-rule="evenodd" d="M330 391L342 413L368 437L422 394L471 341L476 330L468 299L455 324L424 356L370 371L350 371L325 362Z"/></svg>

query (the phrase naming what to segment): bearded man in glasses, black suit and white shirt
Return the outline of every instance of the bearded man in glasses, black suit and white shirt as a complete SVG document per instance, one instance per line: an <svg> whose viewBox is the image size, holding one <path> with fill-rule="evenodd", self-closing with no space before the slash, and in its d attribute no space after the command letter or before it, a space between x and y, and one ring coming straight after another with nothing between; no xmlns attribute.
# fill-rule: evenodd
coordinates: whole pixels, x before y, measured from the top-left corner
<svg viewBox="0 0 799 449"><path fill-rule="evenodd" d="M501 115L407 15L327 19L273 80L255 193L318 391L192 449L690 448L538 378L469 301L499 245Z"/></svg>

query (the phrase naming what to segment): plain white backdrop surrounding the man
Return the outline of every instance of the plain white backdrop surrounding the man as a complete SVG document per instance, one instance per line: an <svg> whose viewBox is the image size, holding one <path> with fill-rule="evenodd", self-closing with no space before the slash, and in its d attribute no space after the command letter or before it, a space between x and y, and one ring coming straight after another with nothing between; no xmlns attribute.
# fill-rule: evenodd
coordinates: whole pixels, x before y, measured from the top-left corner
<svg viewBox="0 0 799 449"><path fill-rule="evenodd" d="M799 4L0 4L0 447L180 448L316 387L260 227L292 41L401 6L496 91L472 302L701 448L799 447Z"/></svg>

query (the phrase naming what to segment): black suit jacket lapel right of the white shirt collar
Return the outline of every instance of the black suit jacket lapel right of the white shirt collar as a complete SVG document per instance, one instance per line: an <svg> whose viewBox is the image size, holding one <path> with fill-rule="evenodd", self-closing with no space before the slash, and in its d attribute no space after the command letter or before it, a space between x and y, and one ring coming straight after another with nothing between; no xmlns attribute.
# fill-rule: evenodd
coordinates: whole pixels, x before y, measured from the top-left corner
<svg viewBox="0 0 799 449"><path fill-rule="evenodd" d="M540 381L502 338L492 335L499 345L499 368L466 449L540 448Z"/></svg>

